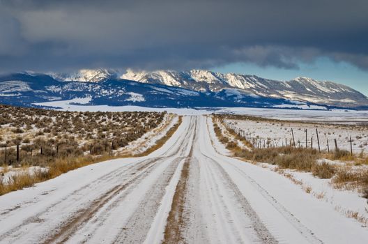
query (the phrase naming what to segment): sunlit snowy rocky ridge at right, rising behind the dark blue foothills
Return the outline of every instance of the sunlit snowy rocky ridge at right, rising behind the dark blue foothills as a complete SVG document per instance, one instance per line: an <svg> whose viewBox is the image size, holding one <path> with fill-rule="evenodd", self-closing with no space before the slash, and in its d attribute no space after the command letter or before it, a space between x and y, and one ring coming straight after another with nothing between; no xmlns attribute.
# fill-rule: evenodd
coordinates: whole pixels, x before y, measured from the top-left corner
<svg viewBox="0 0 368 244"><path fill-rule="evenodd" d="M194 91L221 91L222 89L236 88L255 96L284 98L332 106L359 107L368 104L365 95L348 86L327 81L319 82L307 77L297 77L291 81L282 82L263 79L255 75L222 74L208 70L187 72L171 70L134 72L128 70L121 77L137 82L178 86Z"/></svg>

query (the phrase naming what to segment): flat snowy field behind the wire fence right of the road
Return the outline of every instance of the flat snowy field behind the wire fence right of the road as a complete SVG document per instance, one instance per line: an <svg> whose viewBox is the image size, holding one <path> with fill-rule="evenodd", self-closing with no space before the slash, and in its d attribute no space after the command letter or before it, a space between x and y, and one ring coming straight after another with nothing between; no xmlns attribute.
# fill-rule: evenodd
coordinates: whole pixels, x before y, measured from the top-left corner
<svg viewBox="0 0 368 244"><path fill-rule="evenodd" d="M340 149L351 150L350 137L354 153L368 153L368 127L360 125L344 125L330 123L299 123L289 121L254 121L254 120L226 120L231 128L241 129L250 133L251 137L261 139L261 144L269 139L273 146L283 146L292 142L293 129L296 146L313 146L318 149L316 129L319 132L319 142L322 151L335 150L335 142ZM286 142L285 142L286 140ZM312 142L312 144L311 144Z"/></svg>

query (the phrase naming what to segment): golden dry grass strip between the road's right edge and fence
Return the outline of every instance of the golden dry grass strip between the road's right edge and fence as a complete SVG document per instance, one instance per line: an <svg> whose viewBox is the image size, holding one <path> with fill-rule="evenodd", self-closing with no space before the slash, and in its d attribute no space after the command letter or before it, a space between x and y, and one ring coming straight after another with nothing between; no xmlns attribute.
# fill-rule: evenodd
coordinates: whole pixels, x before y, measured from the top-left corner
<svg viewBox="0 0 368 244"><path fill-rule="evenodd" d="M213 121L221 121L221 118L215 118ZM221 122L220 122L221 123ZM319 151L311 148L294 148L292 146L283 146L277 148L252 148L252 150L244 150L222 139L224 136L217 123L213 124L215 135L217 138L227 146L234 156L247 160L248 162L265 162L278 167L275 171L279 171L287 178L290 178L294 183L300 184L293 176L286 174L282 169L296 169L298 171L312 172L314 176L319 178L331 178L331 183L335 188L345 188L348 190L358 190L362 192L362 197L368 199L368 169L367 168L353 168L348 165L337 166L323 162L317 163L316 160L327 158L330 160L340 160L343 162L352 162L354 165L368 164L368 157L363 153L359 155L353 154L349 151L338 150L331 153L319 153ZM226 128L226 127L225 127ZM229 131L231 135L237 137L234 131ZM305 187L305 192L310 193L312 189ZM317 198L323 195L317 195Z"/></svg>

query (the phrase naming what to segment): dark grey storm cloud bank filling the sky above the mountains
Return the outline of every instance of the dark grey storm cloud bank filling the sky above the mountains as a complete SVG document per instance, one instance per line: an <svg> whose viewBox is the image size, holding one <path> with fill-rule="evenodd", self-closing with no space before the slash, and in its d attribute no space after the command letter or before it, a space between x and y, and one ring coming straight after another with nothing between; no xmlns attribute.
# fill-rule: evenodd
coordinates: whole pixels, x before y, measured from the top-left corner
<svg viewBox="0 0 368 244"><path fill-rule="evenodd" d="M0 69L298 68L328 56L368 69L368 1L0 0Z"/></svg>

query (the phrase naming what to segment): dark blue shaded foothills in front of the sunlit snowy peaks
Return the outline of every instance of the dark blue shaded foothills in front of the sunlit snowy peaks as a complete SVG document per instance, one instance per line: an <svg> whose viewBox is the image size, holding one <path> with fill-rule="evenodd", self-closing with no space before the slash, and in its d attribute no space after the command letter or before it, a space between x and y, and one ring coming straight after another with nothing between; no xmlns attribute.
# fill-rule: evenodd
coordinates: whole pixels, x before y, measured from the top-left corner
<svg viewBox="0 0 368 244"><path fill-rule="evenodd" d="M162 84L143 84L126 79L103 82L68 82L49 75L15 73L0 75L0 103L34 106L36 102L91 98L90 105L139 105L144 107L270 107L293 102L247 96L226 89L201 93Z"/></svg>

